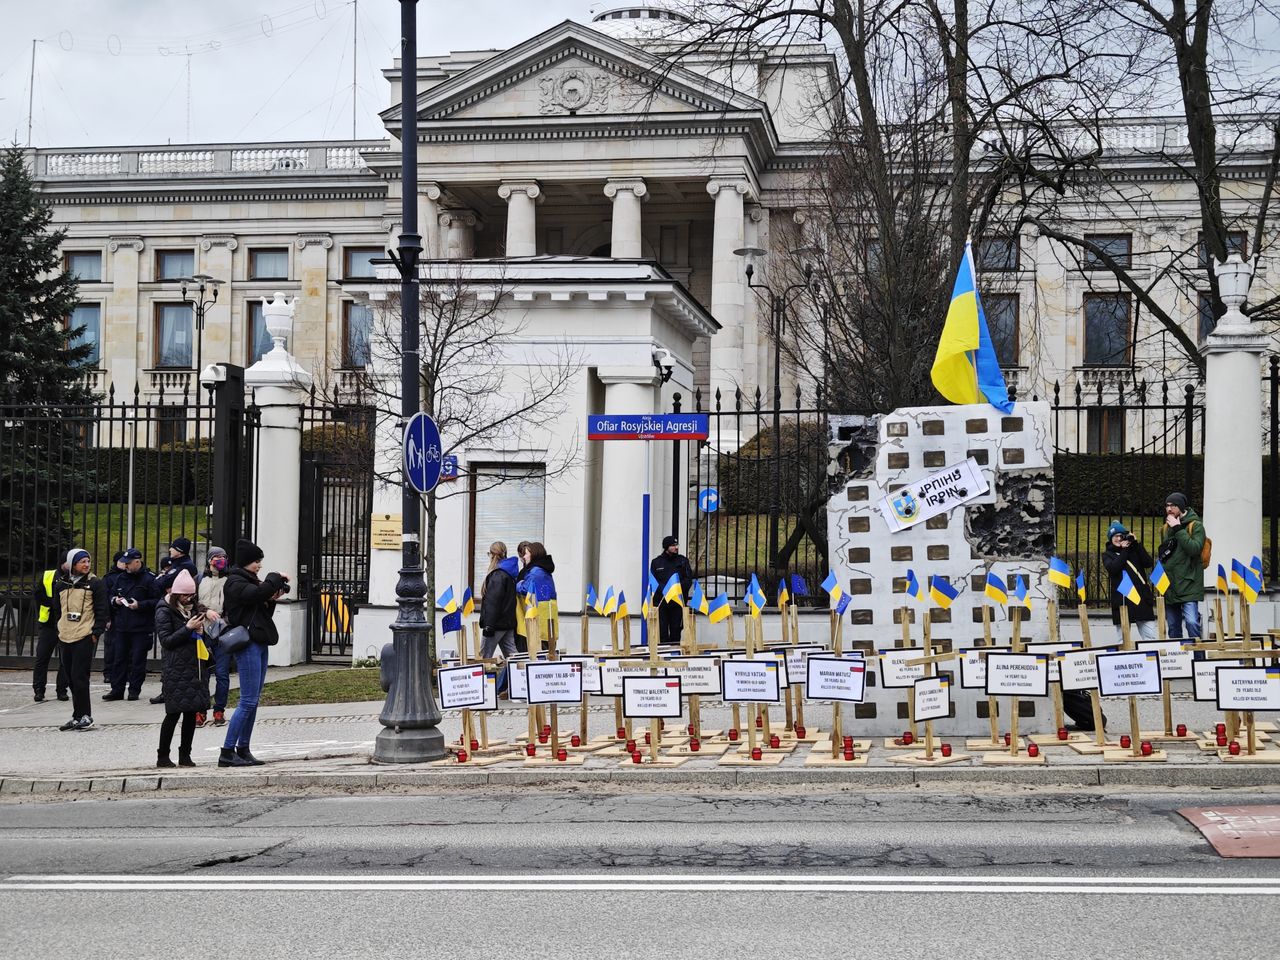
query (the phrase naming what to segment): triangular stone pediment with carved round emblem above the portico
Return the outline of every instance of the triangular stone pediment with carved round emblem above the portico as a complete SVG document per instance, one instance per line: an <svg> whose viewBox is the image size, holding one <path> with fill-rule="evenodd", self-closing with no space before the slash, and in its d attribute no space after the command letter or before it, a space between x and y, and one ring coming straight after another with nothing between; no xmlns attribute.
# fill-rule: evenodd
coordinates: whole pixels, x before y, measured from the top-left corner
<svg viewBox="0 0 1280 960"><path fill-rule="evenodd" d="M754 114L769 123L760 100L572 20L424 91L417 113L424 136L475 120ZM399 106L383 114L393 134L399 116Z"/></svg>

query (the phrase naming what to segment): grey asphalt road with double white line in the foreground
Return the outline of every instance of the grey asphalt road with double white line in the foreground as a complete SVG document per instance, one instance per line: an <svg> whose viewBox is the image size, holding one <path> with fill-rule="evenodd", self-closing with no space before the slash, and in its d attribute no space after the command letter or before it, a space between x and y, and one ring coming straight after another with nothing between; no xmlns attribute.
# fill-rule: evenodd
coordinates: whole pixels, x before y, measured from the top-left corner
<svg viewBox="0 0 1280 960"><path fill-rule="evenodd" d="M0 957L1271 954L1280 861L1179 806L1028 790L0 805ZM69 920L73 919L73 923Z"/></svg>

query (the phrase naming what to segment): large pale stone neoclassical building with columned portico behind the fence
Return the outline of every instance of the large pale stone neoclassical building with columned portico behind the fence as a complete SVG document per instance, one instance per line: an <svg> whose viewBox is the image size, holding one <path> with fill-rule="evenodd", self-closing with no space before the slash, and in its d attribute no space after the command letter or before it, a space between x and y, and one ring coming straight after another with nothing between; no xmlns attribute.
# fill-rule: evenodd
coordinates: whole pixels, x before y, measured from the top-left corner
<svg viewBox="0 0 1280 960"><path fill-rule="evenodd" d="M654 86L645 22L658 17L678 14L611 6L507 50L415 65L426 275L445 276L457 261L480 279L500 274L521 316L525 352L512 365L536 365L539 351L570 343L579 367L544 435L515 449L457 451L465 479L521 483L472 483L444 502L442 564L458 571L454 582L479 586L492 539L544 539L562 596L581 596L588 582L639 588L641 531L611 516L644 489L669 503L669 454L655 451L645 474L641 444L585 442L586 415L669 410L676 392L687 404L695 388L772 389L769 320L735 251L786 251L803 239L806 170L824 150L815 104L836 79L835 61L822 46L788 46L735 63L730 76L708 55L666 69ZM402 69L385 72L389 102ZM67 269L81 278L72 321L95 343L95 384L172 394L193 384L197 360L253 364L270 347L261 308L275 291L298 298L291 349L303 366L335 388L357 379L371 362L383 289L370 283L374 261L401 229L399 108L381 118L387 141L32 151L68 230ZM1075 211L1108 250L1135 260L1194 250L1196 198L1161 186L1167 172L1149 152L1175 128L1160 119L1107 128L1152 198L1137 221ZM1256 155L1261 164L1263 143ZM1242 155L1228 197L1240 212L1254 183L1251 157ZM1139 317L1134 335L1133 298L1110 275L1069 265L1042 237L1002 238L979 270L998 276L988 315L1021 396L1044 396L1055 381L1123 380L1137 358L1166 374L1185 369L1149 321ZM1162 287L1155 270L1156 294L1198 330L1201 305ZM196 330L180 278L200 274L221 285ZM1256 289L1274 284L1266 264L1258 278ZM675 360L666 383L658 349ZM782 376L794 383L785 367ZM1096 449L1125 444L1123 420L1080 429ZM562 481L540 484L552 451L570 447ZM379 497L397 508L396 492ZM669 524L654 517L650 540ZM372 554L370 607L387 608L397 556ZM361 636L380 634L376 616L357 621L358 653Z"/></svg>

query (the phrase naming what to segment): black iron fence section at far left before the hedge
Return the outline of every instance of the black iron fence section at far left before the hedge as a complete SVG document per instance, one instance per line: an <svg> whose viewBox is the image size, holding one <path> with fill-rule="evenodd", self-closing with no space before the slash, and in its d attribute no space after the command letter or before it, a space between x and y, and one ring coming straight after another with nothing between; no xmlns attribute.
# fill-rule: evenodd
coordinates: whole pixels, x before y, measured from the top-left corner
<svg viewBox="0 0 1280 960"><path fill-rule="evenodd" d="M256 494L257 411L246 411L242 483L246 529ZM187 389L93 403L0 404L0 662L32 657L36 584L73 547L104 576L136 547L159 570L169 544L189 539L197 563L209 544L214 408ZM219 544L228 552L234 544Z"/></svg>

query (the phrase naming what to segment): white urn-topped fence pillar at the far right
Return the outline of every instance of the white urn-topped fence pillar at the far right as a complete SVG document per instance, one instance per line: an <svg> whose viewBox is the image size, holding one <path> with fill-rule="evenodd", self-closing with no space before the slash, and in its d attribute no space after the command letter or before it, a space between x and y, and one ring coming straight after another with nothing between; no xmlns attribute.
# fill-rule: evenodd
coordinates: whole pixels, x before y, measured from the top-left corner
<svg viewBox="0 0 1280 960"><path fill-rule="evenodd" d="M1206 361L1201 513L1213 540L1207 586L1215 582L1219 563L1230 568L1233 557L1248 563L1262 556L1262 355L1270 346L1266 332L1240 312L1252 266L1233 253L1216 264L1216 273L1226 314L1201 348Z"/></svg>

